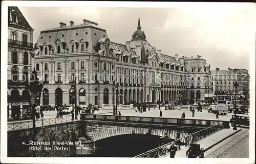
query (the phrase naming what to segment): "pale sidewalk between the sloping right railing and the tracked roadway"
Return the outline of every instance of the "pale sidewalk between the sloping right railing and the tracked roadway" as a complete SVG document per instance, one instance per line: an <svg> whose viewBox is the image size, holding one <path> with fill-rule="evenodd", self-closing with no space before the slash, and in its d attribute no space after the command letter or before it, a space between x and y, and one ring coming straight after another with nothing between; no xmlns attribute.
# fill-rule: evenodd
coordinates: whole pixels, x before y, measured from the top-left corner
<svg viewBox="0 0 256 164"><path fill-rule="evenodd" d="M238 130L233 130L232 128L230 129L223 129L221 131L218 131L214 134L211 134L209 136L207 136L206 138L203 138L199 141L197 141L197 144L200 144L200 148L203 148L204 150L207 149L208 147L216 144L217 142L219 142L220 140L222 140L223 138L235 133L239 131ZM176 152L175 158L187 158L186 157L186 151L188 150L188 147L185 146L181 146L181 150L178 150ZM163 158L169 158L170 155L167 154L165 157Z"/></svg>

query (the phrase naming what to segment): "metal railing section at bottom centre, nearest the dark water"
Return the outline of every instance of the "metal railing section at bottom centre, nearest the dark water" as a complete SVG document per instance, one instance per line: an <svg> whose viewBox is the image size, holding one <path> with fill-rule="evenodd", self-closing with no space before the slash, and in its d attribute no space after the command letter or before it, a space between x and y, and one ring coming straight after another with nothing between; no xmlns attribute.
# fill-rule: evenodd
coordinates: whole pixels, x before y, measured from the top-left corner
<svg viewBox="0 0 256 164"><path fill-rule="evenodd" d="M158 148L136 155L134 158L160 158L162 156L166 156L166 154L169 153L169 147L171 144L174 144L177 150L180 150L180 139L177 139L175 141L169 142L168 144L162 145Z"/></svg>

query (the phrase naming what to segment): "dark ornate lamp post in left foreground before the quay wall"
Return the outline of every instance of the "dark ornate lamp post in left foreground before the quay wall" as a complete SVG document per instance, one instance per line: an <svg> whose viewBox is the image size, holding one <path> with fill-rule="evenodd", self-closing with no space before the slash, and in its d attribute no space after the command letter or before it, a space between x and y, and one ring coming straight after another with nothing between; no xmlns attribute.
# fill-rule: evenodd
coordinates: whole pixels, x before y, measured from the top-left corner
<svg viewBox="0 0 256 164"><path fill-rule="evenodd" d="M35 129L35 107L36 107L36 96L41 95L42 88L44 87L44 84L39 81L37 78L37 72L34 68L34 71L31 72L30 80L26 79L26 88L31 93L31 115L32 115L32 128L33 128L33 135L32 135L32 141L36 141L36 129ZM35 151L33 151L33 157L36 156Z"/></svg>

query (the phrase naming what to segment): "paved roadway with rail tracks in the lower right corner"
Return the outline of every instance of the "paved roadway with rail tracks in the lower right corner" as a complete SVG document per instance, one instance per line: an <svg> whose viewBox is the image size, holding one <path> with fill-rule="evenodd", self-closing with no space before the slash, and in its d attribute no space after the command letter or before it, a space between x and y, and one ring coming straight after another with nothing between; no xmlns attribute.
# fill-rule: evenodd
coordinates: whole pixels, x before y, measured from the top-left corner
<svg viewBox="0 0 256 164"><path fill-rule="evenodd" d="M249 158L249 129L241 128L237 134L227 138L205 152L206 158Z"/></svg>

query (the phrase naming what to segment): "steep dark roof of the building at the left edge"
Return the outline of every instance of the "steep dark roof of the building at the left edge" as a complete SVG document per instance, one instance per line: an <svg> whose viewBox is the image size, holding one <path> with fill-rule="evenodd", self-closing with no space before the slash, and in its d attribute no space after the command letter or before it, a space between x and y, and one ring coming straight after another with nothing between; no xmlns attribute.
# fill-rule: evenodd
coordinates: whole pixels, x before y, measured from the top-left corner
<svg viewBox="0 0 256 164"><path fill-rule="evenodd" d="M16 19L17 19L17 24L12 23L12 14L16 15ZM26 20L26 18L24 17L24 15L22 14L22 12L20 12L20 10L18 9L18 7L16 6L11 6L8 7L8 25L10 26L17 26L20 28L27 28L27 29L32 29L32 27L29 25L28 21Z"/></svg>

